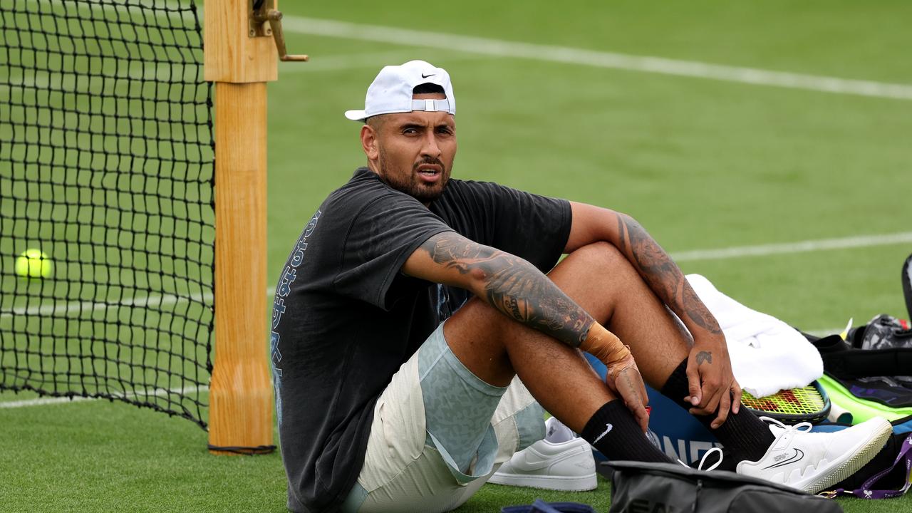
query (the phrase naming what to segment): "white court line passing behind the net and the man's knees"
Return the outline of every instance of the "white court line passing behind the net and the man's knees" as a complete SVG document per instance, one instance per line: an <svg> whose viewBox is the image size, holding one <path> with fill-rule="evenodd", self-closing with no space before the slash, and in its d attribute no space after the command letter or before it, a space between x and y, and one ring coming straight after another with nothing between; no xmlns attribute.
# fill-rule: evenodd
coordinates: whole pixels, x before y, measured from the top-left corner
<svg viewBox="0 0 912 513"><path fill-rule="evenodd" d="M878 236L851 236L843 238L829 238L818 240L805 240L781 244L766 244L761 246L734 246L718 249L695 249L692 251L679 251L670 256L676 262L692 262L705 260L727 260L741 257L766 257L771 255L787 255L793 253L807 253L811 251L826 251L834 249L850 249L857 247L892 246L896 244L912 243L912 232L900 232ZM266 289L266 296L275 294L275 287ZM191 294L189 296L151 296L147 298L123 299L118 302L72 301L60 302L52 305L0 311L0 319L12 318L15 315L59 315L97 309L117 307L163 307L193 299L210 304L212 294Z"/></svg>

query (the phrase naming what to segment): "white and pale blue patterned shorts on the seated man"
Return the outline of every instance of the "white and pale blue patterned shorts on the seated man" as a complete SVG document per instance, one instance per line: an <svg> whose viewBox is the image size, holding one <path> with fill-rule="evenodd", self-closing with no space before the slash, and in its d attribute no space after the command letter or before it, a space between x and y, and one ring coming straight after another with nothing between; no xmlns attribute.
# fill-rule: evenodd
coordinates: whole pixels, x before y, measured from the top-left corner
<svg viewBox="0 0 912 513"><path fill-rule="evenodd" d="M483 382L453 355L441 323L380 395L342 511L458 508L514 452L542 438L544 412L523 382Z"/></svg>

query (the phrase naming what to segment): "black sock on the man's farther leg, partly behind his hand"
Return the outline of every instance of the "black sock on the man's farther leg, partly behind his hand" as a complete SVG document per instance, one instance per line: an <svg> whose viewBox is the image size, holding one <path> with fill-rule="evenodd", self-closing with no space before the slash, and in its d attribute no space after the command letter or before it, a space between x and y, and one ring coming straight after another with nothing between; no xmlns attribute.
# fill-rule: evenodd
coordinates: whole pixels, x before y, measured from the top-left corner
<svg viewBox="0 0 912 513"><path fill-rule="evenodd" d="M684 397L689 394L687 359L685 359L668 376L668 381L662 387L662 395L689 410L692 405L684 401ZM720 425L717 429L710 428L716 415L694 415L694 417L700 421L700 424L705 425L710 433L715 434L720 443L725 446L728 457L723 459L720 469L734 470L735 466L743 460L759 460L775 441L769 426L743 406L738 414L729 412L729 418L725 424Z"/></svg>

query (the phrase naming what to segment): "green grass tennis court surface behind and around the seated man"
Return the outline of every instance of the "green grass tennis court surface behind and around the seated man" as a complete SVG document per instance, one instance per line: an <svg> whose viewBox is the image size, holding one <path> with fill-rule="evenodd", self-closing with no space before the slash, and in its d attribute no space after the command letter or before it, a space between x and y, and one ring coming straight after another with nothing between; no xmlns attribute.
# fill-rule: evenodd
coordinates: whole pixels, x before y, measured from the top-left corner
<svg viewBox="0 0 912 513"><path fill-rule="evenodd" d="M359 107L382 65L423 58L450 71L459 99L453 176L627 212L681 257L685 272L804 330L903 314L912 94L887 98L880 93L896 89L886 86L869 96L825 92L830 82L820 78L912 90L912 5L280 7L288 50L312 62L282 64L269 86L270 283L319 202L364 162L358 125L342 112ZM668 60L643 70L616 54ZM692 66L696 76L682 76L673 66L682 62L754 68L761 82L778 77L767 71L816 79L777 87ZM806 241L831 239L841 242L803 250ZM717 249L730 251L710 252ZM264 348L266 340L264 331ZM0 403L34 397L0 393ZM107 401L46 403L0 408L0 430L3 510L285 510L279 455L208 455L206 434L183 419ZM459 511L534 497L604 511L607 488L602 481L594 493L561 494L486 485ZM912 510L910 497L840 504L850 512Z"/></svg>

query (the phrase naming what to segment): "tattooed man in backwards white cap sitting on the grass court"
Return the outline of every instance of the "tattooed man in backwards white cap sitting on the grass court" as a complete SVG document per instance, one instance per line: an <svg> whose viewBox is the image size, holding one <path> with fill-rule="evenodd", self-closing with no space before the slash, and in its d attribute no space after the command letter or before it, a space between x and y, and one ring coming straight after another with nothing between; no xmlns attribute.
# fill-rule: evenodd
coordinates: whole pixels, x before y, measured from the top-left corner
<svg viewBox="0 0 912 513"><path fill-rule="evenodd" d="M451 180L455 112L449 74L423 61L383 68L346 112L368 166L320 205L275 295L288 508L457 508L544 436L542 406L609 459L669 461L644 434L644 381L745 476L815 493L884 445L881 419L816 434L742 410L719 325L646 230Z"/></svg>

